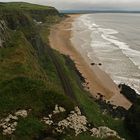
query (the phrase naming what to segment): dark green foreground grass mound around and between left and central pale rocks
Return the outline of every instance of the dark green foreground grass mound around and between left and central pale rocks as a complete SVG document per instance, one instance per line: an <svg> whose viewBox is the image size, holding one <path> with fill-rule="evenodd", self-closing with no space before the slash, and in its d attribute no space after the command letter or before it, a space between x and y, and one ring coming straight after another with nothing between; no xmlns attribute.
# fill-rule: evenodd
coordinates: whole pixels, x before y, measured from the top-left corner
<svg viewBox="0 0 140 140"><path fill-rule="evenodd" d="M75 104L68 97L56 91L48 90L43 81L18 77L0 83L0 119L19 109L30 110L28 118L18 123L14 139L31 140L39 137L47 130L41 124L43 116L52 113L56 104L66 109L66 114L60 114L55 120L64 119L73 110ZM0 130L1 131L1 130ZM7 137L0 135L0 139Z"/></svg>

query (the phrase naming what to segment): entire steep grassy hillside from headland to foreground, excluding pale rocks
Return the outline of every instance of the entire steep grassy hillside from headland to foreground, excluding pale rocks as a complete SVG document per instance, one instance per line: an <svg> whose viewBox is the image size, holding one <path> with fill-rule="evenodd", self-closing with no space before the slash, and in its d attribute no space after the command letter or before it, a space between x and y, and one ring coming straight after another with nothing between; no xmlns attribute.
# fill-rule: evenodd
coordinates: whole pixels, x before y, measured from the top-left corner
<svg viewBox="0 0 140 140"><path fill-rule="evenodd" d="M0 140L97 139L89 132L75 136L72 130L67 130L59 134L54 132L55 126L42 123L42 117L53 112L56 104L66 109L54 116L56 122L66 118L78 105L92 125L108 126L121 137L131 140L123 120L103 114L83 89L74 63L50 49L50 27L63 18L52 7L0 3L0 119L21 109L28 111L26 118L19 118L12 135L3 135L0 128Z"/></svg>

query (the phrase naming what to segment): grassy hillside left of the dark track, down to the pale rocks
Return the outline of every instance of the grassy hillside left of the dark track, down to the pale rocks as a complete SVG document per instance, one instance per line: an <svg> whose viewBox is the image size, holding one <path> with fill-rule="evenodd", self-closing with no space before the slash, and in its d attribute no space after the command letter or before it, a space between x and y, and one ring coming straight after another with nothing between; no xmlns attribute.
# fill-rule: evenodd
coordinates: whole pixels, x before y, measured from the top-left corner
<svg viewBox="0 0 140 140"><path fill-rule="evenodd" d="M2 135L0 128L2 140L38 139L47 129L40 121L42 116L52 112L56 104L67 112L74 107L64 95L39 35L42 22L47 21L49 26L59 19L58 11L52 7L0 4L0 119L20 109L29 110L13 135Z"/></svg>

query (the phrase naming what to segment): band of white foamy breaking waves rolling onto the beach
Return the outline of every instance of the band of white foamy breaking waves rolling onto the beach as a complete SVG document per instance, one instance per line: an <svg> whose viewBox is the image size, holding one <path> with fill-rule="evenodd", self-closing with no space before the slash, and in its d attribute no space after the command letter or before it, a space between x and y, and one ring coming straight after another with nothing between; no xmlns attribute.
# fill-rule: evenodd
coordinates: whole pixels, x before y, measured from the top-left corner
<svg viewBox="0 0 140 140"><path fill-rule="evenodd" d="M117 36L120 34L118 30L96 24L92 15L82 15L77 18L75 23L77 24L75 29L82 35L87 30L90 31L89 36L81 38L84 40L81 49L87 49L87 56L91 60L93 60L93 55L98 57L103 62L103 69L105 68L117 84L126 83L139 93L140 51L132 49L129 42L126 43L123 38L119 38ZM80 34L78 37L81 37ZM88 37L90 38L90 46L86 41Z"/></svg>

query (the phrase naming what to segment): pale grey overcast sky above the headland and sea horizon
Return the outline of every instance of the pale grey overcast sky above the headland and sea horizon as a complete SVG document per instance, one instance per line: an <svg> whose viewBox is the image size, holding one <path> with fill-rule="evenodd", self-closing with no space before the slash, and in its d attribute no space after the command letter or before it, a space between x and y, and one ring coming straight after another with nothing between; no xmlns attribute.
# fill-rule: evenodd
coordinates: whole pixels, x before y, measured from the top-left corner
<svg viewBox="0 0 140 140"><path fill-rule="evenodd" d="M2 2L17 0L0 0ZM19 0L21 1L21 0ZM140 10L140 0L23 0L26 2L51 5L59 10L66 9L121 9Z"/></svg>

